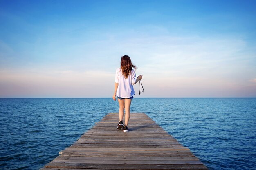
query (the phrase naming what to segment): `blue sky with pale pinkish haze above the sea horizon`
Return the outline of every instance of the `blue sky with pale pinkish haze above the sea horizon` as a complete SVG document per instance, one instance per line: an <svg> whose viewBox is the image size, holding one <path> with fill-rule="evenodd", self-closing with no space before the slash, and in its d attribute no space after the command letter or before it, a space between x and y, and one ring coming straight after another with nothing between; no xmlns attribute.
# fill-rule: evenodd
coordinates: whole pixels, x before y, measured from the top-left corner
<svg viewBox="0 0 256 170"><path fill-rule="evenodd" d="M0 97L256 97L256 1L0 0Z"/></svg>

